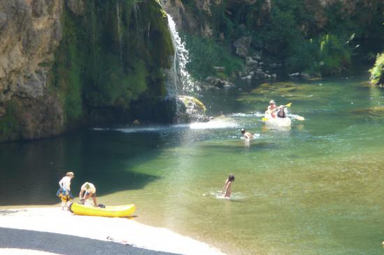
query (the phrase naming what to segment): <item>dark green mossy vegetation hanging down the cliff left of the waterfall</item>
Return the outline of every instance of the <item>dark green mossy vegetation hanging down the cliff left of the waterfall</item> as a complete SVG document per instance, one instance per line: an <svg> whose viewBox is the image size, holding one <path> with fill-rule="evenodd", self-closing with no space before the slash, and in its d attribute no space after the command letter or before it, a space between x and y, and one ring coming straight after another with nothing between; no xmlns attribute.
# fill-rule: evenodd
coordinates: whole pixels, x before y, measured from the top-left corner
<svg viewBox="0 0 384 255"><path fill-rule="evenodd" d="M65 121L79 123L88 111L127 111L139 98L165 95L161 70L174 53L158 1L85 2L76 16L64 8L63 39L55 54L52 86Z"/></svg>

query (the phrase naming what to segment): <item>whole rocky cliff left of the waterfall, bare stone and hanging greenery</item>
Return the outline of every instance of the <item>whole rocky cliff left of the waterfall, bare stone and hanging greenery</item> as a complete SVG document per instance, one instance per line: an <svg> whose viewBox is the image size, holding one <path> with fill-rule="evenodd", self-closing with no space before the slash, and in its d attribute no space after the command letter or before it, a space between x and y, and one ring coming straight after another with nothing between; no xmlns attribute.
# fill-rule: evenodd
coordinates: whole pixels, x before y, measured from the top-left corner
<svg viewBox="0 0 384 255"><path fill-rule="evenodd" d="M0 1L0 141L169 121L173 52L156 0Z"/></svg>

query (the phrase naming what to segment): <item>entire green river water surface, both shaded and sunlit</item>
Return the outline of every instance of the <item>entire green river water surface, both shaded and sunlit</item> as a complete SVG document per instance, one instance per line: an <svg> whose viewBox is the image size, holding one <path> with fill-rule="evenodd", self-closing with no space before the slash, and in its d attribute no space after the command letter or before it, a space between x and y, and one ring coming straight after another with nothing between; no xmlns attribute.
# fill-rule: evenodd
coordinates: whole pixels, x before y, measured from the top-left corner
<svg viewBox="0 0 384 255"><path fill-rule="evenodd" d="M242 85L200 99L213 123L87 130L0 145L0 206L53 205L96 185L100 203L228 254L384 254L384 91L367 77ZM293 102L290 130L260 121ZM247 143L239 130L258 134ZM231 201L216 198L235 174Z"/></svg>

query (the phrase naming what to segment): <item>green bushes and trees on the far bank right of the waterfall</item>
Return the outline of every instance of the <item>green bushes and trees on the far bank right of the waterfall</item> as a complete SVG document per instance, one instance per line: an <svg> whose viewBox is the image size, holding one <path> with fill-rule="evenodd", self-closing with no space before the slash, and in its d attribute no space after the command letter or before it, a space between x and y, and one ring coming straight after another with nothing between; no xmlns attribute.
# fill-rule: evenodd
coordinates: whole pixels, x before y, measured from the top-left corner
<svg viewBox="0 0 384 255"><path fill-rule="evenodd" d="M184 1L183 1L184 3ZM212 36L200 38L195 31L186 36L190 48L189 69L194 77L217 75L214 65L226 66L226 75L239 70L242 59L231 49L241 36L251 36L249 54L263 52L263 61L286 62L288 72L309 72L312 75L332 75L347 70L353 55L367 56L383 47L384 5L374 0L334 1L322 5L318 0L272 0L253 4L221 1L209 6L212 15L185 1L204 30L209 24ZM223 49L223 50L220 50ZM360 57L358 60L364 59ZM222 75L222 74L220 74Z"/></svg>

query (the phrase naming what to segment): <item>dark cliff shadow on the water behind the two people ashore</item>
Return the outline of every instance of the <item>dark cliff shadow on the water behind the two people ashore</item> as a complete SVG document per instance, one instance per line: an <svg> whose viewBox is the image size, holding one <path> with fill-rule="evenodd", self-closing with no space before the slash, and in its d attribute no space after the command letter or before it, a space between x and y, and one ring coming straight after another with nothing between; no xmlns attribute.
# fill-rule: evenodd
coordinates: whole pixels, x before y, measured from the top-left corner
<svg viewBox="0 0 384 255"><path fill-rule="evenodd" d="M59 203L59 180L73 171L71 192L94 183L98 196L142 189L160 177L135 173L135 166L161 153L156 133L78 132L33 142L0 144L0 206Z"/></svg>

